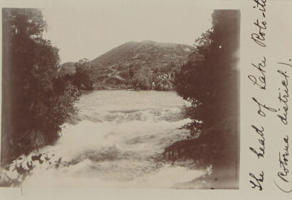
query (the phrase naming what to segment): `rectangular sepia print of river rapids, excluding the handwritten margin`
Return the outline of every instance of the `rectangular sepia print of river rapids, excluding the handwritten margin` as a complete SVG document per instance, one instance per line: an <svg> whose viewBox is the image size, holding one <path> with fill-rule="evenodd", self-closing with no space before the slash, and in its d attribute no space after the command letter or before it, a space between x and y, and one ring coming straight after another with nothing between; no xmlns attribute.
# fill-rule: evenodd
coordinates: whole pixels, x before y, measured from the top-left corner
<svg viewBox="0 0 292 200"><path fill-rule="evenodd" d="M1 187L239 189L239 9L2 8Z"/></svg>

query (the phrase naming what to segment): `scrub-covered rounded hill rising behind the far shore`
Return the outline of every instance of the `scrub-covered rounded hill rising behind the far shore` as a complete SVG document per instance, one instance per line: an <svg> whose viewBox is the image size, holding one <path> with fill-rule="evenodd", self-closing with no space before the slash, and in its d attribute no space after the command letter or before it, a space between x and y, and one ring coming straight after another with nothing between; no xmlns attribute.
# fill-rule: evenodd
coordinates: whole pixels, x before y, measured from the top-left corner
<svg viewBox="0 0 292 200"><path fill-rule="evenodd" d="M98 89L173 90L174 71L191 51L177 43L130 41L91 60L90 76Z"/></svg>

